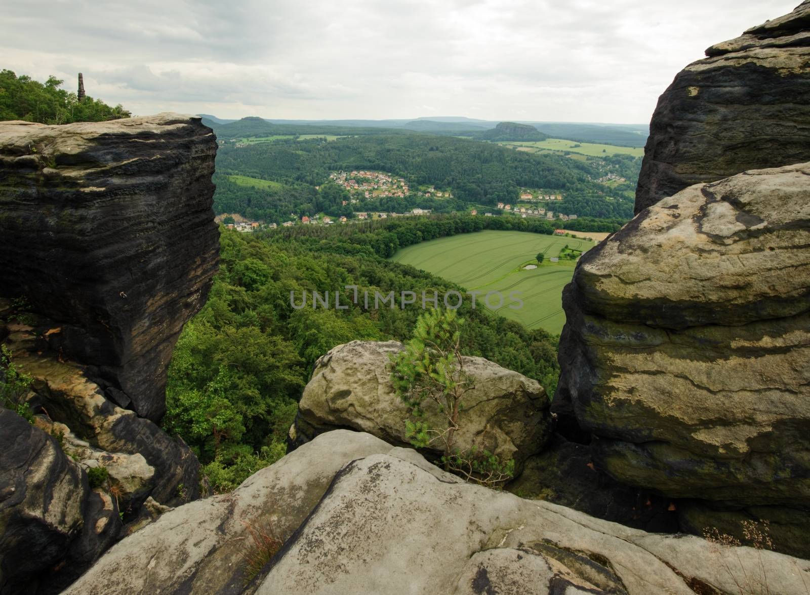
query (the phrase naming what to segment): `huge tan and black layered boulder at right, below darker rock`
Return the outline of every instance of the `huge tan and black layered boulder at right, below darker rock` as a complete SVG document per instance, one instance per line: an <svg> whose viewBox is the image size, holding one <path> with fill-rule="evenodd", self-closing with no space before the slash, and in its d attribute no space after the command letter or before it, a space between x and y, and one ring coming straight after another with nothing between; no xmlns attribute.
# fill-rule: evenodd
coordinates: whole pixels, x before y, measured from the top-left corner
<svg viewBox="0 0 810 595"><path fill-rule="evenodd" d="M595 465L771 519L810 555L810 164L661 200L582 257L563 302L552 410Z"/></svg>

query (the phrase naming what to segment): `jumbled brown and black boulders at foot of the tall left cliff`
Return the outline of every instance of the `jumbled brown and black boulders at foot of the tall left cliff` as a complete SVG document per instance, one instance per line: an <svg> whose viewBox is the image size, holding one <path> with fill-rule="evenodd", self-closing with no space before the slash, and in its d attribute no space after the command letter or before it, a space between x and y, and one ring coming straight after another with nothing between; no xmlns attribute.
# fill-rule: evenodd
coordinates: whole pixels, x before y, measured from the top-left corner
<svg viewBox="0 0 810 595"><path fill-rule="evenodd" d="M199 463L181 439L106 399L83 366L49 352L52 321L19 323L6 303L0 336L32 377L35 416L32 425L0 408L0 593L58 593L155 518L151 508L197 499ZM100 467L108 478L91 489Z"/></svg>

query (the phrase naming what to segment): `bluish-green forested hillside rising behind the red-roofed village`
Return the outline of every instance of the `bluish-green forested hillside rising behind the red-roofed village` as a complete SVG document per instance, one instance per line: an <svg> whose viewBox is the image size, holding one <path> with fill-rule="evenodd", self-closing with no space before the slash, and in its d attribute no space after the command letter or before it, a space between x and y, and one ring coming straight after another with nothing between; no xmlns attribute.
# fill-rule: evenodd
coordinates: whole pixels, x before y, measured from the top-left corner
<svg viewBox="0 0 810 595"><path fill-rule="evenodd" d="M527 155L492 143L434 135L368 135L329 143L319 139L279 139L249 146L224 143L217 156L220 173L287 184L319 185L339 169L386 171L412 185L450 187L461 201L484 205L514 202L519 187L593 197L609 191L594 181L601 173L590 162L558 155ZM629 216L632 204L611 211L608 216Z"/></svg>

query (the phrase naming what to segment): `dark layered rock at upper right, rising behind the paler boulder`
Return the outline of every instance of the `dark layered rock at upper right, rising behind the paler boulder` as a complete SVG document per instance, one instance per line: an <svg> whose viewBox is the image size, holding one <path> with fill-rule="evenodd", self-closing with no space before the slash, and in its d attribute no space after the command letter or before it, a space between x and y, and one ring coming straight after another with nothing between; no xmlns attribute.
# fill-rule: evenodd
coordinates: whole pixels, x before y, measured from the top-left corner
<svg viewBox="0 0 810 595"><path fill-rule="evenodd" d="M706 56L659 99L636 212L686 186L810 161L810 2Z"/></svg>

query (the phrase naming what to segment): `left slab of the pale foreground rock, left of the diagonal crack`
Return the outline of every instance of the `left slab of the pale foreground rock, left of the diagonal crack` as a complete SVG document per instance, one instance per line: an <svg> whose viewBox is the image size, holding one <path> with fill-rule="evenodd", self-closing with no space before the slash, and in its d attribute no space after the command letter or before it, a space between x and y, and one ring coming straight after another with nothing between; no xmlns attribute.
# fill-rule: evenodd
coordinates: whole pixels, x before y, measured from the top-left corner
<svg viewBox="0 0 810 595"><path fill-rule="evenodd" d="M322 434L231 494L178 507L119 541L67 593L240 593L249 528L287 539L344 464L401 451L370 434Z"/></svg>

